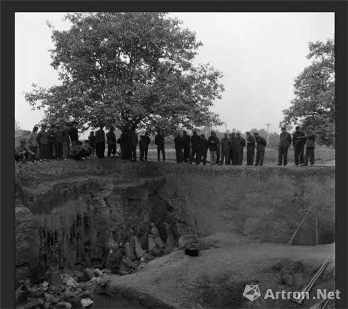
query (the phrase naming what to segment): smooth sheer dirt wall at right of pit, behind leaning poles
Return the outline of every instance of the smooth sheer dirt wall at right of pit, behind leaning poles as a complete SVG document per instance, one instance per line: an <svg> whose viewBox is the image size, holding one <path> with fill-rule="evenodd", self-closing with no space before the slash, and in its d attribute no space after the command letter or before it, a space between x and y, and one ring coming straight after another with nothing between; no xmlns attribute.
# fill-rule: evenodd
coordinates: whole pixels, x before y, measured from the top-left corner
<svg viewBox="0 0 348 309"><path fill-rule="evenodd" d="M182 201L202 235L234 232L284 243L311 210L295 244L334 241L335 167L203 167L162 164L164 194Z"/></svg>

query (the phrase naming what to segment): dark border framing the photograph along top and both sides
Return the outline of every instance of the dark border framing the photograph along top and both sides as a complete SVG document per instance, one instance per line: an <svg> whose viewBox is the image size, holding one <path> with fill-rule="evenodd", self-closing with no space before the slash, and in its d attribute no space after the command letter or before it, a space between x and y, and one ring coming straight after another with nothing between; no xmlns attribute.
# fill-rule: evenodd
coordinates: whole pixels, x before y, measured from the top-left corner
<svg viewBox="0 0 348 309"><path fill-rule="evenodd" d="M347 1L1 1L1 294L0 308L14 306L15 15L14 12L335 12L336 65L336 308L347 309Z"/></svg>

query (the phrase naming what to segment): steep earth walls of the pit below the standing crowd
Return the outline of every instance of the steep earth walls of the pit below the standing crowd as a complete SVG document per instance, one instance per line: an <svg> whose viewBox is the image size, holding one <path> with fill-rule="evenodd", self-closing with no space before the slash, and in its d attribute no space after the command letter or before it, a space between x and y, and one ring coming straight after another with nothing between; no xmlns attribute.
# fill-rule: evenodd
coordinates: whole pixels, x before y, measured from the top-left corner
<svg viewBox="0 0 348 309"><path fill-rule="evenodd" d="M175 243L197 229L200 237L235 233L246 242L286 244L315 202L294 244L334 242L335 171L330 167L310 172L241 167L231 172L171 163L120 164L85 169L74 162L69 172L47 169L33 176L35 167L26 167L17 174L17 285L27 277L40 282L49 269L105 268L110 233L124 244L132 229L146 250L151 222L164 242L169 224ZM95 168L97 173L91 174ZM28 175L33 185L28 185ZM97 293L95 308L145 307Z"/></svg>

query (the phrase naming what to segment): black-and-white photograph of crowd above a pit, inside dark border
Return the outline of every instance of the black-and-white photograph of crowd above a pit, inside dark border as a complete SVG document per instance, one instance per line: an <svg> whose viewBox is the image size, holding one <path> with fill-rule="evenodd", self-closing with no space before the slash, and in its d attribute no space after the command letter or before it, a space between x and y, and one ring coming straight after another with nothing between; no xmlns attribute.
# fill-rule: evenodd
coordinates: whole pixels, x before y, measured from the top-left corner
<svg viewBox="0 0 348 309"><path fill-rule="evenodd" d="M17 309L335 308L334 12L14 22Z"/></svg>

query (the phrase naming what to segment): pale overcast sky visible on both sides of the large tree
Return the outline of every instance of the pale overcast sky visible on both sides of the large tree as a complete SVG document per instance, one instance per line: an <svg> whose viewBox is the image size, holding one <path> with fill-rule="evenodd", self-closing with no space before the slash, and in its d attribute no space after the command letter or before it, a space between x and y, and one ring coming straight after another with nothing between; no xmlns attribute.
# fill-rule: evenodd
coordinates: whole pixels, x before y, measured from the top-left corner
<svg viewBox="0 0 348 309"><path fill-rule="evenodd" d="M15 118L30 130L42 118L24 100L31 83L58 84L50 67L53 48L47 20L58 29L68 28L65 13L17 12L15 15ZM282 110L290 106L294 78L310 62L308 42L334 36L331 12L182 12L184 26L203 42L196 62L210 62L223 72L223 99L212 110L228 128L279 131ZM221 130L224 128L221 127Z"/></svg>

